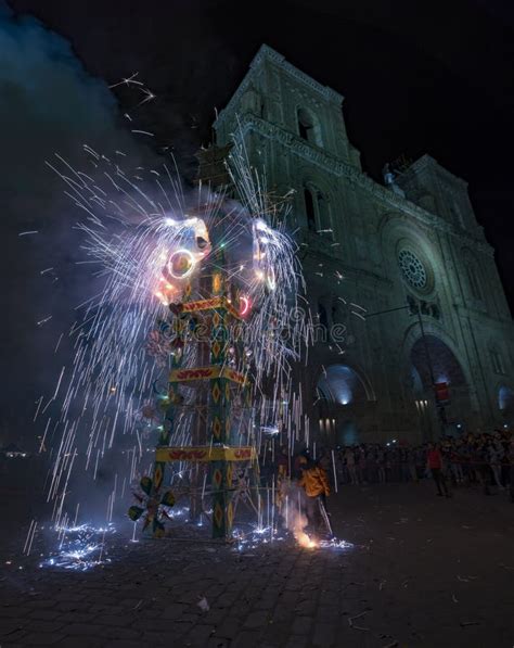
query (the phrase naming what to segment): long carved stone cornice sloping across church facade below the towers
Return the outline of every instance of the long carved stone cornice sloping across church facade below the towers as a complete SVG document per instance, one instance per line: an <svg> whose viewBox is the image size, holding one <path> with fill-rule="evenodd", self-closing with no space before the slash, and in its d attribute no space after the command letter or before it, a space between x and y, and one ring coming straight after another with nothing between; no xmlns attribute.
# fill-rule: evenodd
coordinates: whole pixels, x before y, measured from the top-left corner
<svg viewBox="0 0 514 648"><path fill-rule="evenodd" d="M359 189L365 191L384 205L387 205L388 208L396 209L415 218L426 228L442 231L454 239L458 239L462 244L471 244L476 250L479 250L491 257L493 256L493 250L486 241L477 240L475 237L472 237L464 231L458 231L453 225L447 223L440 216L432 214L409 200L399 196L386 187L375 182L355 166L335 157L331 153L326 153L318 147L311 147L308 142L293 132L284 130L280 126L266 122L255 115L245 114L240 119L240 128L237 128L237 132L234 134L234 137L244 137L249 131L255 131L266 139L281 143L294 155L310 162L323 171L335 175L338 178L346 178L350 185L355 185Z"/></svg>

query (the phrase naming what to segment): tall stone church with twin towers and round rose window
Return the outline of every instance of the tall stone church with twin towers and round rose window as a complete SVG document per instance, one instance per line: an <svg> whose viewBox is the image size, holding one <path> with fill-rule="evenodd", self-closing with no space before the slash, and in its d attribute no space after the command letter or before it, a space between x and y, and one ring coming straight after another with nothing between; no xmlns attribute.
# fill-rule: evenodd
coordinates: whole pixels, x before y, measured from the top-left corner
<svg viewBox="0 0 514 648"><path fill-rule="evenodd" d="M509 425L512 319L466 182L423 155L377 183L342 103L262 46L214 125L221 148L241 126L268 187L294 190L290 226L320 325L297 368L311 425L330 443Z"/></svg>

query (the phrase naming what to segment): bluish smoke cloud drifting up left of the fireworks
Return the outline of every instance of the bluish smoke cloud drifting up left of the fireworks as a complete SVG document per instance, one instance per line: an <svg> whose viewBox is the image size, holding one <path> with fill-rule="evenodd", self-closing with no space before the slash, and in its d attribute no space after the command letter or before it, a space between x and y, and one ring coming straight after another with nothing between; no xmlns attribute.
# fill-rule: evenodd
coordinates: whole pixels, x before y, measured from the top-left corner
<svg viewBox="0 0 514 648"><path fill-rule="evenodd" d="M33 17L13 15L2 2L0 52L0 445L14 441L34 449L35 404L66 361L74 307L95 288L91 269L76 265L83 257L73 228L80 214L46 161L59 153L94 178L94 167L85 166L91 164L85 144L131 167L153 155L130 132L137 125L124 118L107 85L88 74L70 43Z"/></svg>

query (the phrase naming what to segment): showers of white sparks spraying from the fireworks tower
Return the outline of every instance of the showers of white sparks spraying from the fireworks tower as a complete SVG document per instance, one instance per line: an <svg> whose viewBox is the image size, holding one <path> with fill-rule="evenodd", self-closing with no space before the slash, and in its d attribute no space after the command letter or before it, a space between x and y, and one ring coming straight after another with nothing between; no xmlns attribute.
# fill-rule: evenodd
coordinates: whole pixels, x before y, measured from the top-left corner
<svg viewBox="0 0 514 648"><path fill-rule="evenodd" d="M141 85L134 76L124 84ZM145 100L150 99L145 93ZM191 292L195 300L211 296L201 279L205 267L215 267L216 255L223 258L224 281L235 287L227 301L245 323L229 332L227 365L254 385L257 424L243 416L237 419L243 409L237 403L234 406L242 443L260 446L266 429L273 435L280 430L290 439L308 429L291 378L291 363L299 359L311 325L308 318L291 317L304 281L296 245L284 225L290 207L284 211L268 201L241 141L236 141L229 164L237 201L222 191L213 194L200 188L189 201L200 205L195 207L198 216L192 215L180 181L166 166L147 174L141 167L133 174L90 147L86 145L85 152L94 162L94 179L59 155L55 165L49 165L85 215L76 225L87 255L87 261L79 263L93 264L101 282L99 292L77 306L78 318L68 335L75 355L63 368L53 397L43 407L41 398L35 416L48 410L43 440L53 456L48 500L53 504L59 528L67 528L66 520L74 516L66 510L78 505L68 499L79 470L93 481L103 479L105 472L111 481L114 478L107 522L113 518L116 503L130 491L127 483L147 470L146 440L163 430L163 412L170 403L177 407L172 443L191 445L194 390L184 386L170 395L167 377L170 358L180 356L184 368L197 364L196 347L189 341L198 334L201 322L181 317L182 303ZM150 179L144 179L146 176ZM281 334L284 330L287 336ZM63 334L54 353L62 339ZM234 353L236 347L243 352ZM265 377L273 385L266 397L261 389ZM159 405L149 405L152 393ZM110 465L110 452L117 443L125 445L124 480L112 474ZM191 465L177 463L171 484L187 487L190 479ZM205 483L202 498L204 495L209 496ZM83 530L81 534L77 546L69 547L68 538L61 558L52 558L54 564L63 560L88 566L98 562L93 556L102 542L93 538L94 534L85 535Z"/></svg>

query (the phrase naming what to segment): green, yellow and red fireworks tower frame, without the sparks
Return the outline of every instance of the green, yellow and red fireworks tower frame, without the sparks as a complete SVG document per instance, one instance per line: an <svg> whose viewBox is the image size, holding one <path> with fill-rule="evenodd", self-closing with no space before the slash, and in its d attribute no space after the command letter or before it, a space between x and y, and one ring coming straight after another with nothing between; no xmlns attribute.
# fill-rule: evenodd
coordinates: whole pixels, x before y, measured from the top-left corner
<svg viewBox="0 0 514 648"><path fill-rule="evenodd" d="M143 491L150 497L146 503L145 528L153 537L164 535L165 507L175 504L175 495L169 490L169 480L166 479L168 463L184 462L189 467L192 521L202 521L202 516L205 513L204 494L206 481L209 478L214 537L230 537L232 533L233 462L252 462L254 471L258 474L255 442L252 431L246 429L250 418L246 416L245 421L240 421L237 434L232 425L232 401L239 399L242 406L249 406L250 389L247 367L244 366L243 336L239 335L239 340L231 341L231 329L234 323L243 325L248 304L246 297L228 285L224 266L223 253L220 249L215 263L204 268L201 278L202 287L207 289L210 296L192 298L193 288L188 282L184 287L183 300L179 304L171 304L176 315L174 343L170 346L170 351L171 348L174 351L170 353L168 393L160 398L159 403L160 409L165 412L165 420L157 443L153 475L143 478L141 483ZM232 298L236 304L241 303L239 310L232 306ZM202 331L204 336L201 334ZM188 344L196 346L196 363L200 365L184 368L182 361ZM232 344L234 346L231 346ZM230 363L229 355L232 356ZM230 365L241 366L244 372L233 369ZM184 384L190 385L190 389L195 385L193 386L194 401L189 404L181 391ZM240 407L239 416L244 417L247 409L244 406ZM182 446L170 445L180 417L191 412L193 430L190 443ZM252 445L241 444L240 439L245 433L248 441L252 436ZM206 469L207 466L210 470ZM137 520L145 511L134 506L130 512L132 519Z"/></svg>

